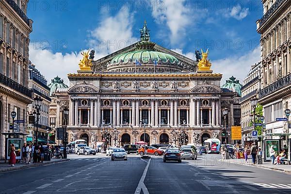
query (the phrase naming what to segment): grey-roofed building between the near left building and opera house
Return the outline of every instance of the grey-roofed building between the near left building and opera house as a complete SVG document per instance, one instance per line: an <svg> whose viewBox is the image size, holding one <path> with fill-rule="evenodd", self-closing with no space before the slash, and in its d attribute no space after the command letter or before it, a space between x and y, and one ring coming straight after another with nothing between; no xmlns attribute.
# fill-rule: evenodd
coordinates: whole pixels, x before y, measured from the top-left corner
<svg viewBox="0 0 291 194"><path fill-rule="evenodd" d="M42 101L39 102L40 107L40 115L39 115L39 121L38 121L38 142L46 143L48 139L48 132L51 129L49 127L49 105L51 103L51 99L49 97L50 94L50 88L47 85L48 81L45 79L45 77L35 68L35 65L30 64L29 65L29 81L28 81L28 87L33 92L33 98L35 97L41 97ZM32 104L28 105L28 112L30 114L33 113L35 110L35 104L37 103L36 100L33 100ZM36 117L36 115L35 115ZM27 127L27 133L29 134L27 140L28 143L32 143L35 139L36 131L34 130L36 128L37 123L28 124ZM32 135L34 134L34 136ZM32 138L33 137L33 138Z"/></svg>

